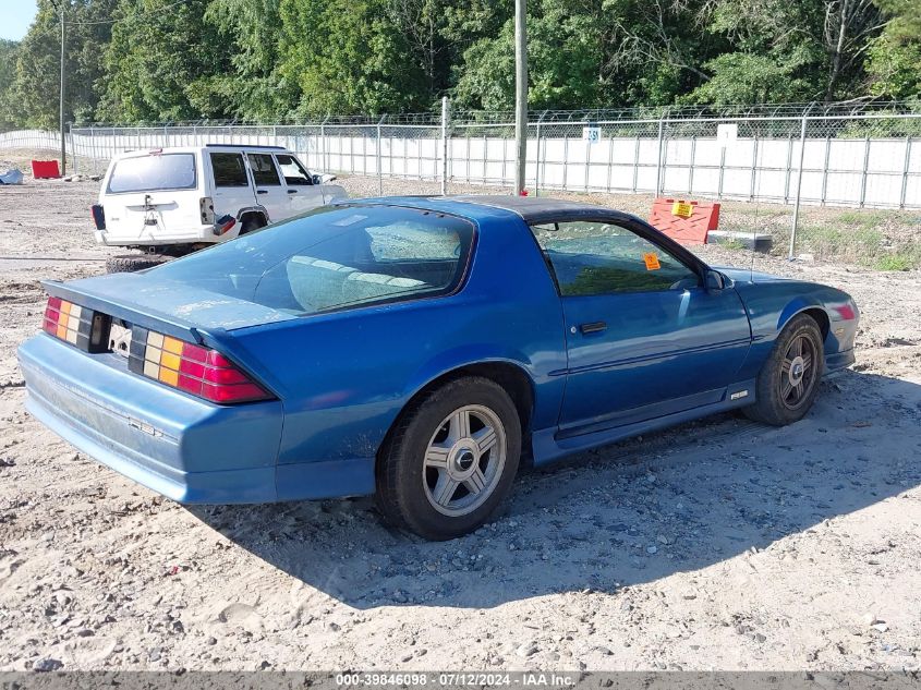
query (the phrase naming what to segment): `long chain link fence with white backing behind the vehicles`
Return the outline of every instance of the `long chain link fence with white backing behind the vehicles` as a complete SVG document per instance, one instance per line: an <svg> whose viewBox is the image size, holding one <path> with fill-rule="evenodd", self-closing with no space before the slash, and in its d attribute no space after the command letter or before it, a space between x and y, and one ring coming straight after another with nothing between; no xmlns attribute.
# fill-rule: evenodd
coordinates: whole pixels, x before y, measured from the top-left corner
<svg viewBox="0 0 921 690"><path fill-rule="evenodd" d="M66 146L80 173L102 173L126 150L275 145L312 171L366 178L362 193L510 190L512 114L444 108L299 124L74 125ZM777 239L792 255L802 207L921 208L919 137L921 112L900 104L532 112L525 180L532 195L616 195L627 208L630 196L785 205L766 215L788 216ZM0 148L57 150L60 140L8 132Z"/></svg>

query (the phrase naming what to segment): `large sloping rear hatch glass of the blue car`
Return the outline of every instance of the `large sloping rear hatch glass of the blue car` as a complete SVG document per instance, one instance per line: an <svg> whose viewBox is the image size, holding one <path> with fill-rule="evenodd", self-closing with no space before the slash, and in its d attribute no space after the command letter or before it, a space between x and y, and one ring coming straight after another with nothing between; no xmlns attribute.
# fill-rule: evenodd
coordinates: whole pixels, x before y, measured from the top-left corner
<svg viewBox="0 0 921 690"><path fill-rule="evenodd" d="M158 276L292 314L452 292L473 226L390 206L320 207L170 262Z"/></svg>

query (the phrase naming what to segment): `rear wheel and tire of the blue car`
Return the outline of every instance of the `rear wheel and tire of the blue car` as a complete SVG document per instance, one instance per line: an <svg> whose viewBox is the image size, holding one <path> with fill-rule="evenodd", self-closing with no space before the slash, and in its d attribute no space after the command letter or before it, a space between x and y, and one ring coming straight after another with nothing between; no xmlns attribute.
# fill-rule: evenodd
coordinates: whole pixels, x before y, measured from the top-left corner
<svg viewBox="0 0 921 690"><path fill-rule="evenodd" d="M487 378L452 380L405 410L381 448L378 509L428 540L461 536L506 499L520 458L521 421L508 394Z"/></svg>

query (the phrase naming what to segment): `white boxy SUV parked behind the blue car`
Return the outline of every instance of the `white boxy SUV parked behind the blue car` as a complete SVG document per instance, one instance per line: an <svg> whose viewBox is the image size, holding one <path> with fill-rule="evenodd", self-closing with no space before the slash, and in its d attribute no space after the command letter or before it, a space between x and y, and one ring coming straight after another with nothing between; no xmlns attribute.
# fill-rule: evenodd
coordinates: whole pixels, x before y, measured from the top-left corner
<svg viewBox="0 0 921 690"><path fill-rule="evenodd" d="M135 150L109 164L93 206L96 241L141 250L110 271L138 270L348 196L280 146Z"/></svg>

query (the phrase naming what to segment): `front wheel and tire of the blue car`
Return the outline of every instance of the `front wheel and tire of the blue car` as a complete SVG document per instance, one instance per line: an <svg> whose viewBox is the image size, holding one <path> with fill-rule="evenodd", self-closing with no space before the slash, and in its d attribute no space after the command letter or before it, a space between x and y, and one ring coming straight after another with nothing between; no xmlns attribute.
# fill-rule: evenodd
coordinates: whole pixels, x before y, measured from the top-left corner
<svg viewBox="0 0 921 690"><path fill-rule="evenodd" d="M744 408L746 415L756 422L785 426L805 416L815 396L825 350L822 331L807 314L795 316L780 331L774 349L758 375L758 400ZM795 385L796 382L799 384ZM799 386L802 389L798 392Z"/></svg>

